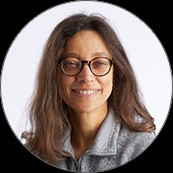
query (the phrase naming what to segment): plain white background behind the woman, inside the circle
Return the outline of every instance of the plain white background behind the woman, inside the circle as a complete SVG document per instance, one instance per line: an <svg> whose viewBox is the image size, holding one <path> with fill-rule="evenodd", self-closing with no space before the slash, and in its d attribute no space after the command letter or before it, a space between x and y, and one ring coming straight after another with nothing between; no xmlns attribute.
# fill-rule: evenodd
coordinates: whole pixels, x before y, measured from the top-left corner
<svg viewBox="0 0 173 173"><path fill-rule="evenodd" d="M76 1L54 6L36 16L9 46L1 74L1 97L7 121L16 136L20 138L25 130L25 106L33 91L44 44L61 20L77 12L102 14L115 29L132 63L145 104L155 118L156 133L159 133L172 99L169 57L159 38L126 9L104 2Z"/></svg>

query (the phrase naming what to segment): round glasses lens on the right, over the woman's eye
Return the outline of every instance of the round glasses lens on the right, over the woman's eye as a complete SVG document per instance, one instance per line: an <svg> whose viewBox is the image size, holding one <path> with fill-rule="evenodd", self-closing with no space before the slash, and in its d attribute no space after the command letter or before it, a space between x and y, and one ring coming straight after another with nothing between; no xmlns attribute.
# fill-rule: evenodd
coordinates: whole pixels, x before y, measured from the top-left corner
<svg viewBox="0 0 173 173"><path fill-rule="evenodd" d="M108 58L95 58L91 61L91 70L95 75L105 75L109 72L111 61Z"/></svg>

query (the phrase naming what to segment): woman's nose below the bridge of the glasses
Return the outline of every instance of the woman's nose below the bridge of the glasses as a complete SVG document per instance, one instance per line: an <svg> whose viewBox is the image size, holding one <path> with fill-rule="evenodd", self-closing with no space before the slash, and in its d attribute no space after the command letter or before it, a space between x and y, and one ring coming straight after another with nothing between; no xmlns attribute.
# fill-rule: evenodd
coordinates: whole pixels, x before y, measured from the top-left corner
<svg viewBox="0 0 173 173"><path fill-rule="evenodd" d="M77 81L89 83L94 80L94 74L91 72L89 66L84 64L82 71L76 76Z"/></svg>

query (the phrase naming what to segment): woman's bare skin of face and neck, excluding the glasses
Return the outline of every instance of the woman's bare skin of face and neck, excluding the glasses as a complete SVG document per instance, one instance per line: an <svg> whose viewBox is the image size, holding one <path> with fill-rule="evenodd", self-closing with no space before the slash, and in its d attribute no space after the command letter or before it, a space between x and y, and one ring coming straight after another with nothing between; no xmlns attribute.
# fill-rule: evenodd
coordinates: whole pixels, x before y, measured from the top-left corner
<svg viewBox="0 0 173 173"><path fill-rule="evenodd" d="M65 55L73 54L81 60L92 60L97 56L112 59L101 36L95 31L80 31L67 41ZM92 145L99 127L108 113L108 102L113 87L113 68L97 77L87 65L77 76L67 76L61 70L61 96L69 106L72 126L71 143L78 160ZM79 90L94 90L92 94L80 94ZM84 91L85 90L85 91Z"/></svg>

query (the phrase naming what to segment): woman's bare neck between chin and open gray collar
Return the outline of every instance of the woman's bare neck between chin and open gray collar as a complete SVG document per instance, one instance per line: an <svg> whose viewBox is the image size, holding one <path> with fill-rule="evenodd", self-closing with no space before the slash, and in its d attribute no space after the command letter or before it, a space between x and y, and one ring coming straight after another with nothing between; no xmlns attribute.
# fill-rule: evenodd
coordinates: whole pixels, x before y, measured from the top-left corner
<svg viewBox="0 0 173 173"><path fill-rule="evenodd" d="M92 112L70 111L70 123L72 126L71 142L76 153L76 158L80 157L92 145L107 113L107 105Z"/></svg>

